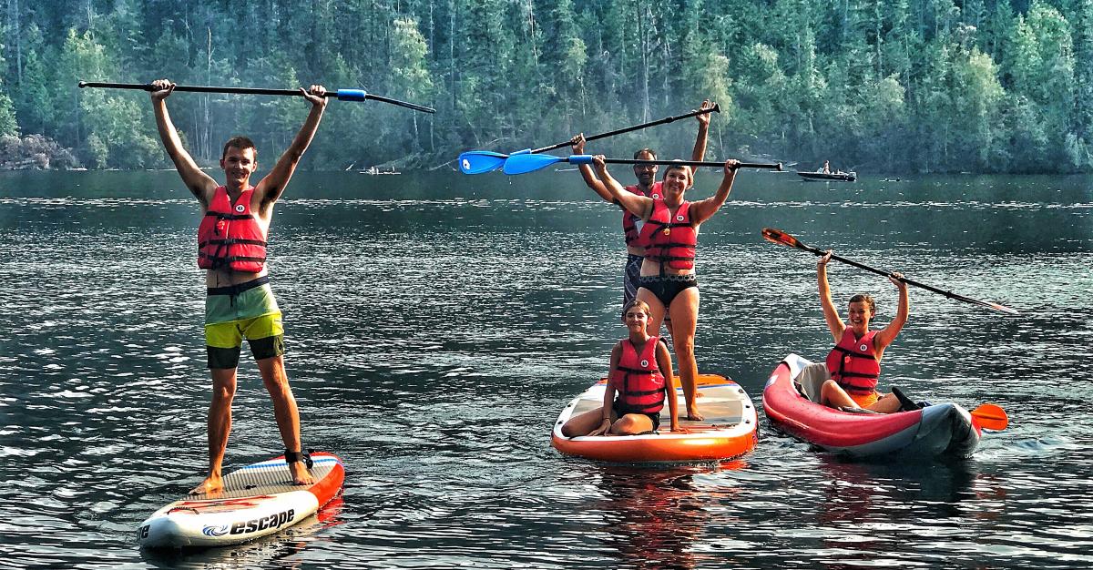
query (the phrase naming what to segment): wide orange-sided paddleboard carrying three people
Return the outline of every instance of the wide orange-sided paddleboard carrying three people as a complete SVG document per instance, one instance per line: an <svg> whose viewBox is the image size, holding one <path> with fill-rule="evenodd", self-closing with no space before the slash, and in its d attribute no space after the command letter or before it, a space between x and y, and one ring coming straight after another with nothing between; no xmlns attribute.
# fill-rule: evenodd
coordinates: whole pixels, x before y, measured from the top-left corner
<svg viewBox="0 0 1093 570"><path fill-rule="evenodd" d="M698 375L698 411L702 421L683 419L686 414L680 379L673 379L679 402L680 427L686 434L668 431L668 405L660 413L660 430L642 436L583 436L567 438L562 426L573 416L603 405L607 379L573 399L554 423L551 444L567 455L612 463L680 463L730 459L755 447L759 419L755 406L740 384L717 375Z"/></svg>

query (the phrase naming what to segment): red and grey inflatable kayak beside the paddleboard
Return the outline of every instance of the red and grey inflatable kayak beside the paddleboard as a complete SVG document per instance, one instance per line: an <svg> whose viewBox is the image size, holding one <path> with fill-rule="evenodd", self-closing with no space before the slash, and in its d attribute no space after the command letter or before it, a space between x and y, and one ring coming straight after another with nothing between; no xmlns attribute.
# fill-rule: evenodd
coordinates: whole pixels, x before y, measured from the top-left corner
<svg viewBox="0 0 1093 570"><path fill-rule="evenodd" d="M843 412L809 400L826 379L823 363L790 354L763 389L766 417L791 436L855 458L967 456L979 444L978 419L956 404L895 414Z"/></svg>

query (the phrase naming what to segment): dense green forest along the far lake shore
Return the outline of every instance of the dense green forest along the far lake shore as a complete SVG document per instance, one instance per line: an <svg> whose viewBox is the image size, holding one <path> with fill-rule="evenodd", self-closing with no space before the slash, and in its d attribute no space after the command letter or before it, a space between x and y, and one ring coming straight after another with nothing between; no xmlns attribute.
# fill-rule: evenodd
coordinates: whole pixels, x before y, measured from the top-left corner
<svg viewBox="0 0 1093 570"><path fill-rule="evenodd" d="M436 108L331 102L305 159L315 169L435 167L465 150L509 152L679 115L707 97L722 108L712 159L1093 169L1093 0L5 2L9 164L168 166L145 93L77 87L167 78L363 87ZM280 152L307 112L297 97L193 93L168 107L207 163L240 133ZM679 156L693 144L684 132L654 129L589 151Z"/></svg>

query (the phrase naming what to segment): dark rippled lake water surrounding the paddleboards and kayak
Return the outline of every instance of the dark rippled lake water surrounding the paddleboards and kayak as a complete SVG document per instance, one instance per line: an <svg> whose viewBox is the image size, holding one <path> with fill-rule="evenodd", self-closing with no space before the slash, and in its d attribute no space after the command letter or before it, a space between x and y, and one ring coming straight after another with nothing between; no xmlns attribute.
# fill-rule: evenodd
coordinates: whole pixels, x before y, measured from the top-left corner
<svg viewBox="0 0 1093 570"><path fill-rule="evenodd" d="M720 464L555 452L551 424L625 333L620 216L593 198L573 171L297 175L273 289L305 446L345 460L344 496L270 539L158 555L138 523L205 467L197 203L174 171L0 174L0 567L1093 565L1089 177L752 171L703 226L698 366L756 404L788 353L831 346L815 258L765 226L1021 311L910 289L882 385L1011 420L969 460L914 465L845 462L762 414L754 452ZM831 281L892 318L886 280ZM227 468L282 449L246 352L240 375Z"/></svg>

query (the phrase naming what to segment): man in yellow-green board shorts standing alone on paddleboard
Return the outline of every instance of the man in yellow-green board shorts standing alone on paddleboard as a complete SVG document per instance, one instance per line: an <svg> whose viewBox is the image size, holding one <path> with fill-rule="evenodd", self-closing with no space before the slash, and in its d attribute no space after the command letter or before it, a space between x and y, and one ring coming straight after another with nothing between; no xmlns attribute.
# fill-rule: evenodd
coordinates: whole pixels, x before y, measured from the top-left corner
<svg viewBox="0 0 1093 570"><path fill-rule="evenodd" d="M186 188L201 203L198 266L207 270L205 347L213 393L208 427L209 476L190 494L215 494L224 487L221 465L232 431L232 399L244 337L273 400L273 415L284 440L293 484L310 485L314 478L304 464L299 412L284 370L281 310L270 289L266 268L266 237L273 204L284 192L322 119L326 90L321 85L312 85L306 92L299 90L310 102L312 110L292 144L258 185L250 186L250 175L258 169L255 144L245 136L227 141L220 159L225 183L220 186L183 149L165 102L175 84L158 80L152 85L155 87L152 109L160 138Z"/></svg>

